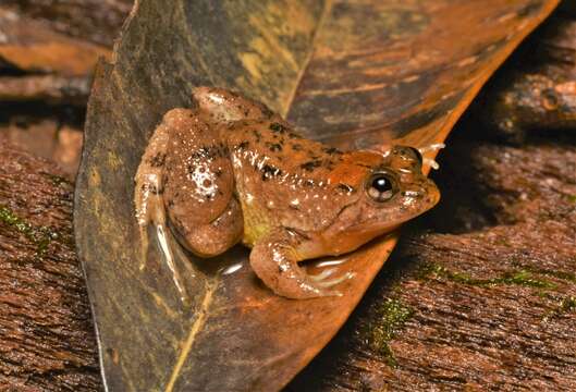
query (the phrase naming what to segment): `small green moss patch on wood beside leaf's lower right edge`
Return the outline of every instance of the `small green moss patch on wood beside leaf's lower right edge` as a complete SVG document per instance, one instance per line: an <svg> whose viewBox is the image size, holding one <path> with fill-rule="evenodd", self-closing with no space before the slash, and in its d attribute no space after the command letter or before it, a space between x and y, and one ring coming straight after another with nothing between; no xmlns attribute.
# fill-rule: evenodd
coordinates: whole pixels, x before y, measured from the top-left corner
<svg viewBox="0 0 576 392"><path fill-rule="evenodd" d="M388 298L377 310L375 322L367 326L361 334L371 350L384 357L392 367L396 366L389 342L414 315L414 309L399 299Z"/></svg>

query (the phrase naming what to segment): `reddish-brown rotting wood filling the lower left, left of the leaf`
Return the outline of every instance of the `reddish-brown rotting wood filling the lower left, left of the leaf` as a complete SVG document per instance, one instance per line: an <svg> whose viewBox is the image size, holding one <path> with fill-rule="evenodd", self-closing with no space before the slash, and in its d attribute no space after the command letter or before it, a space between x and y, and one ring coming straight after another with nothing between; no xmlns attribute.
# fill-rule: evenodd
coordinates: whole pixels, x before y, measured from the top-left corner
<svg viewBox="0 0 576 392"><path fill-rule="evenodd" d="M101 385L72 235L73 185L0 143L0 390Z"/></svg>

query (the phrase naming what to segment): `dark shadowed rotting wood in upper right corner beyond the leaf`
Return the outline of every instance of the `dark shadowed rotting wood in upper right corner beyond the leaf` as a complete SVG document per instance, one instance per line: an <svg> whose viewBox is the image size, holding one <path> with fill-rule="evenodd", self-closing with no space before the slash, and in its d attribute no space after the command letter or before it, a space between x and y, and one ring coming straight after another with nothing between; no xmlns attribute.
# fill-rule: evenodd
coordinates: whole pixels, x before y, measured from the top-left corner
<svg viewBox="0 0 576 392"><path fill-rule="evenodd" d="M476 102L474 112L487 128L507 140L576 128L576 11L569 1L563 5Z"/></svg>

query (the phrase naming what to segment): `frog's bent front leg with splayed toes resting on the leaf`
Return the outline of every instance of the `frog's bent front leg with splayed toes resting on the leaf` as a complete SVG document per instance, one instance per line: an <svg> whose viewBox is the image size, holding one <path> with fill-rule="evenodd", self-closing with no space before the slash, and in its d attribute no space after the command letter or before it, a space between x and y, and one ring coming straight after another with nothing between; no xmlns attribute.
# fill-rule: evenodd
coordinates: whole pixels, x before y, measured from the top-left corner
<svg viewBox="0 0 576 392"><path fill-rule="evenodd" d="M298 261L303 260L298 255L299 246L297 234L286 229L275 229L254 245L250 266L258 278L278 295L295 299L342 295L330 287L351 275L331 281L308 275L298 266Z"/></svg>

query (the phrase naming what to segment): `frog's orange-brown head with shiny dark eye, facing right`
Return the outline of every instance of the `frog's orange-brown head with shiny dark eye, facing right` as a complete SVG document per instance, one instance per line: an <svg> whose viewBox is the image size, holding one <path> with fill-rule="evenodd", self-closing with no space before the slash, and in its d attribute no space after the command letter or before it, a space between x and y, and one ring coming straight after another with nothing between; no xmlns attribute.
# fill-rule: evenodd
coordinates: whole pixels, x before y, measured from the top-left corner
<svg viewBox="0 0 576 392"><path fill-rule="evenodd" d="M327 231L332 254L348 252L429 210L440 199L436 184L422 174L422 157L413 147L394 146L387 152L356 151L348 158L358 168L347 175L356 191Z"/></svg>

